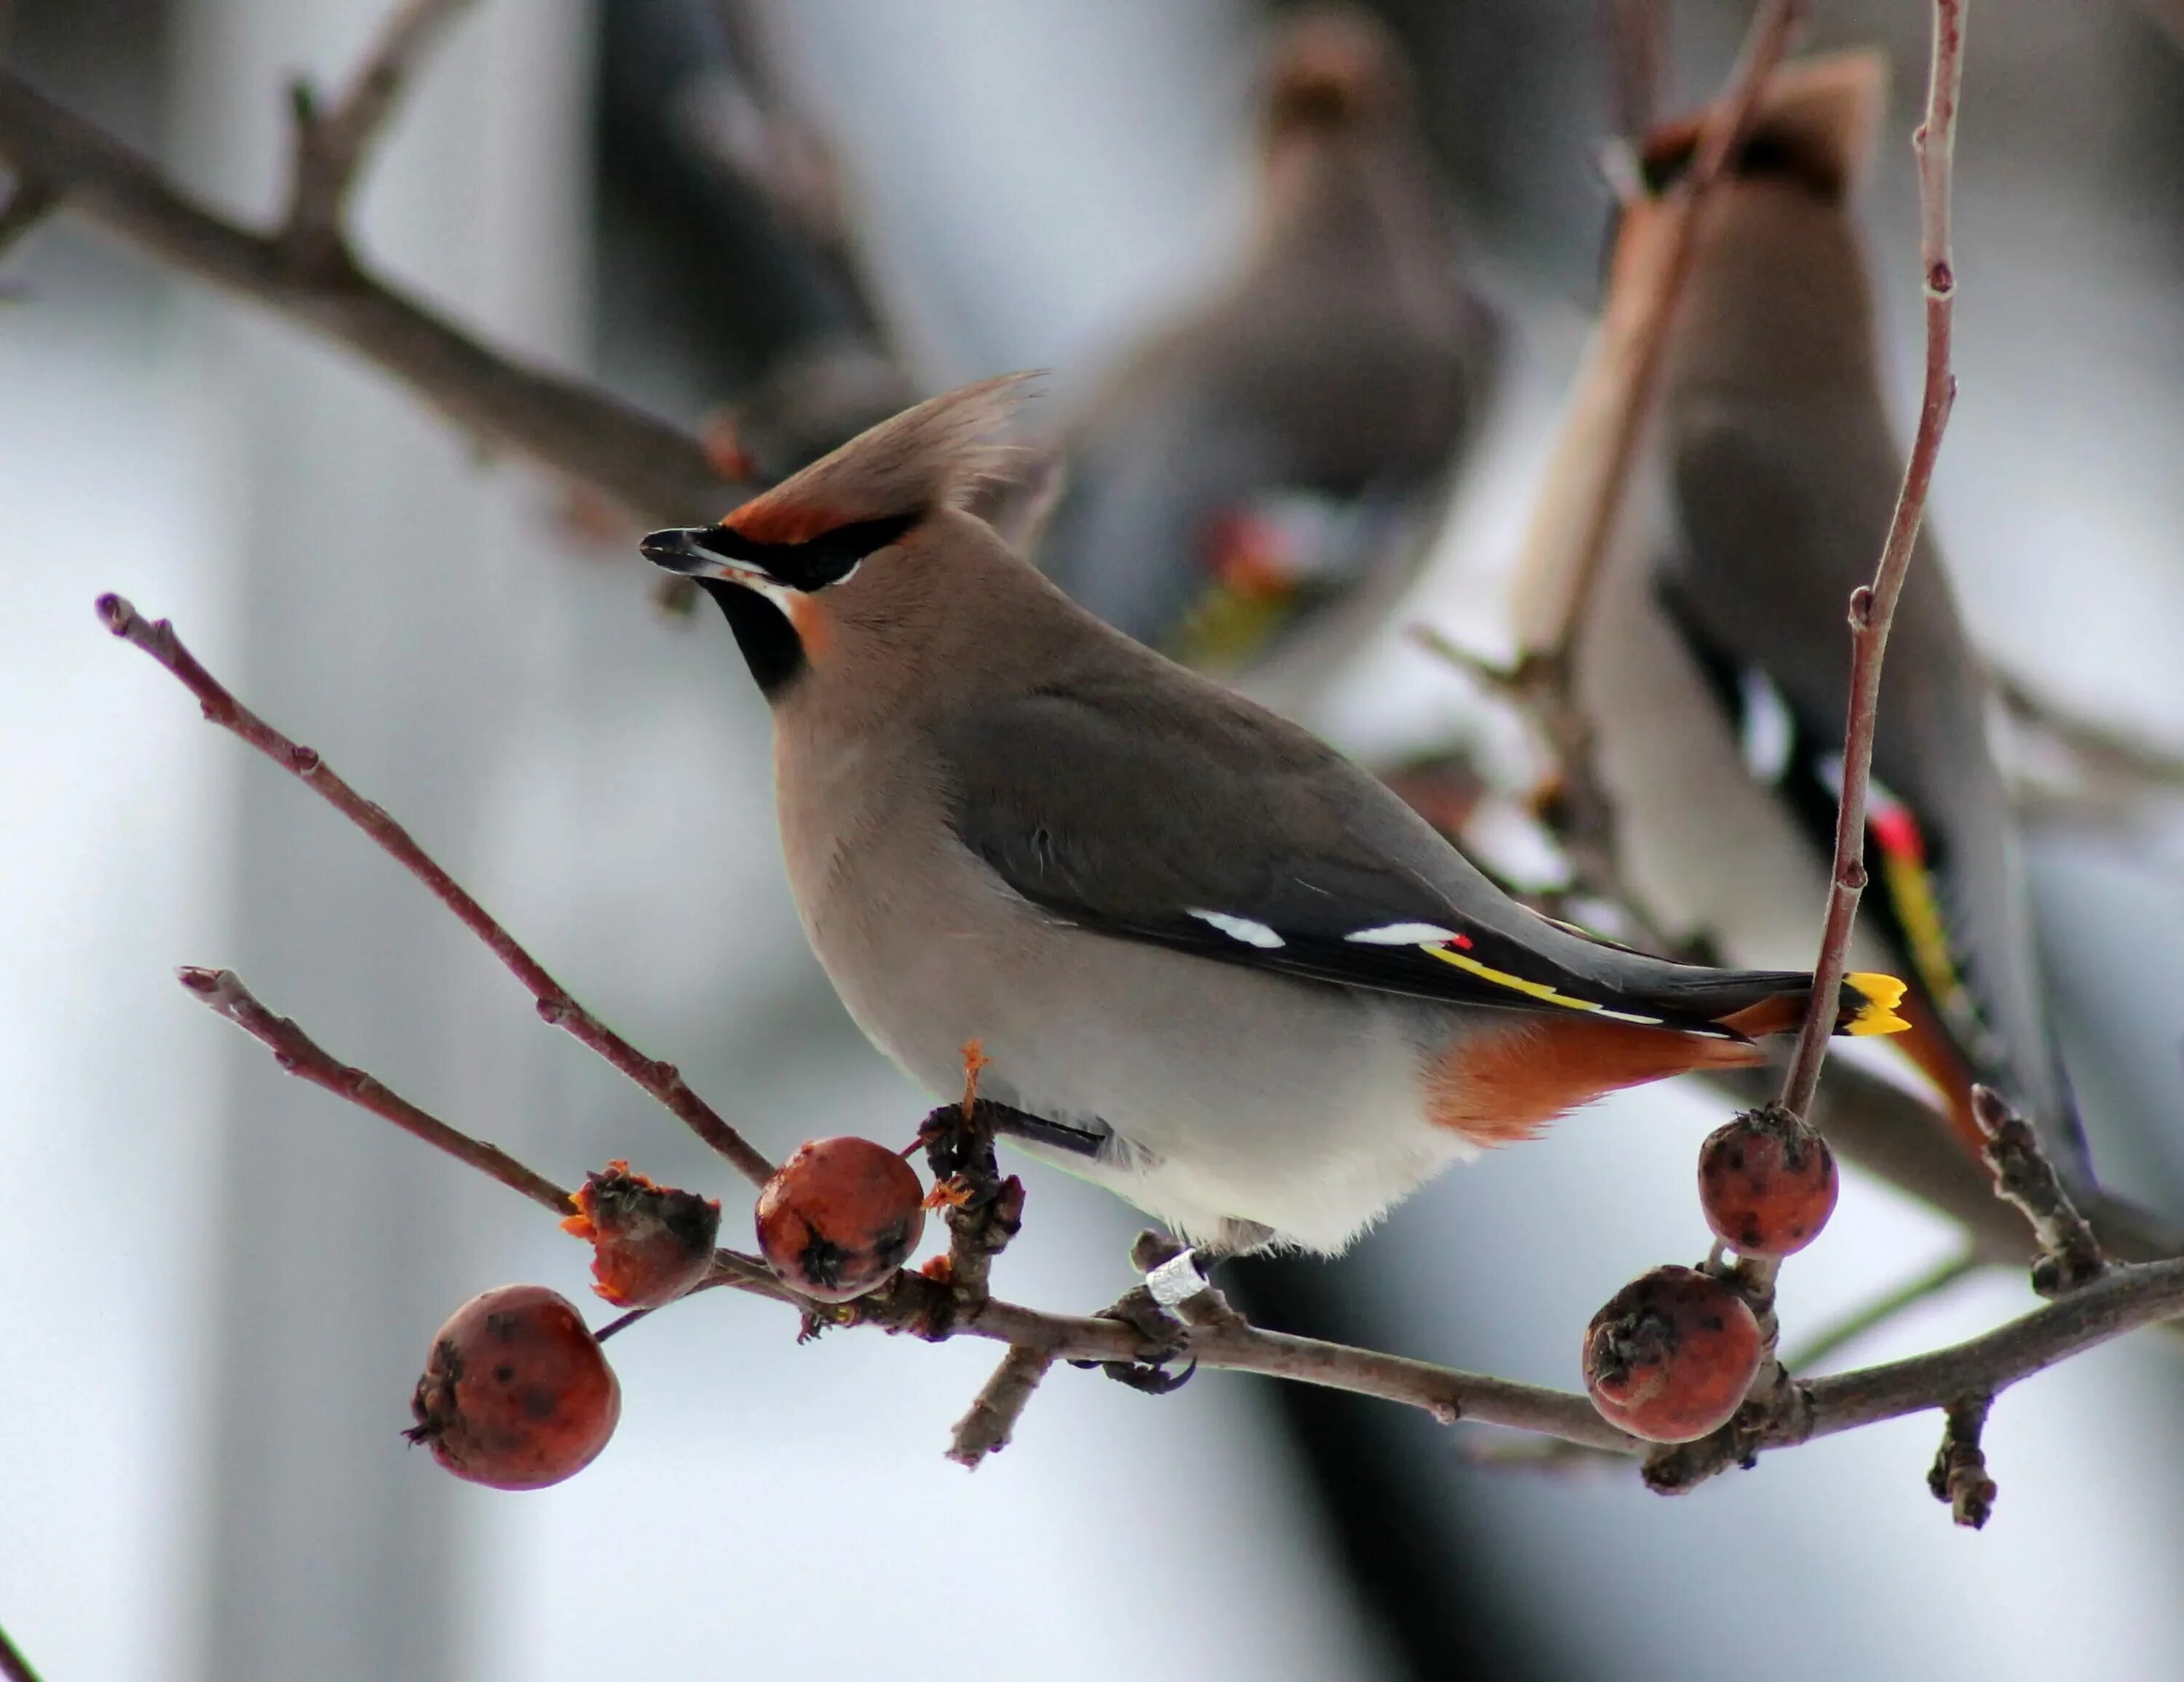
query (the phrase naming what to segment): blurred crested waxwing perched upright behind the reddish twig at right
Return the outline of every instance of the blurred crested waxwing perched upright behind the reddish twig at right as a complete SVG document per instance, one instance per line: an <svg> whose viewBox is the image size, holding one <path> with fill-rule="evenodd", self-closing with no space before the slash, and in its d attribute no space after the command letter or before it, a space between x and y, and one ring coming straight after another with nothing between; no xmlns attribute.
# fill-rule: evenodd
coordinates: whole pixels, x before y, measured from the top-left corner
<svg viewBox="0 0 2184 1682"><path fill-rule="evenodd" d="M1669 935L1734 963L1808 952L1819 926L1845 603L1872 579L1902 478L1850 203L1883 105L1876 52L1776 74L1706 201L1623 529L1583 601L1566 550L1535 550L1518 579L1520 644L1570 638L1625 885ZM1697 120L1651 135L1649 181L1688 166L1695 140ZM1610 288L1651 260L1660 232L1651 203L1627 208ZM1987 682L1928 537L1889 640L1870 813L1870 933L1854 961L1911 979L1911 1027L1894 1044L1935 1081L1966 1147L1981 1142L1970 1088L1985 1081L2090 1188L1987 745Z"/></svg>

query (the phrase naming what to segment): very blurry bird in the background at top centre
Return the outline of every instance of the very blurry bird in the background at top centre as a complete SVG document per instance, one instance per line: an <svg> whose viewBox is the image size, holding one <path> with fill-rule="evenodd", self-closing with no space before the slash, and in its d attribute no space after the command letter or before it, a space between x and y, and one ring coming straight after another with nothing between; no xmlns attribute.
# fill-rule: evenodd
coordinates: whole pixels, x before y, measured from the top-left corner
<svg viewBox="0 0 2184 1682"><path fill-rule="evenodd" d="M1243 269L1123 360L1068 428L1037 559L1109 625L1238 668L1361 585L1479 419L1492 319L1465 286L1396 44L1313 9L1278 39Z"/></svg>

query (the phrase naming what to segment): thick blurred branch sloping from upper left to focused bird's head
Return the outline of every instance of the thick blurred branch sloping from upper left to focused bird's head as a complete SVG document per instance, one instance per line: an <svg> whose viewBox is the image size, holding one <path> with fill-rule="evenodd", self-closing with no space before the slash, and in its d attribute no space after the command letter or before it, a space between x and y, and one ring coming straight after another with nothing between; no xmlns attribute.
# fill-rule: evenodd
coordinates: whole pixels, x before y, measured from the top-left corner
<svg viewBox="0 0 2184 1682"><path fill-rule="evenodd" d="M159 262L349 347L467 433L592 485L636 516L690 518L738 500L688 433L583 380L489 350L363 264L299 266L142 153L0 70L0 159Z"/></svg>

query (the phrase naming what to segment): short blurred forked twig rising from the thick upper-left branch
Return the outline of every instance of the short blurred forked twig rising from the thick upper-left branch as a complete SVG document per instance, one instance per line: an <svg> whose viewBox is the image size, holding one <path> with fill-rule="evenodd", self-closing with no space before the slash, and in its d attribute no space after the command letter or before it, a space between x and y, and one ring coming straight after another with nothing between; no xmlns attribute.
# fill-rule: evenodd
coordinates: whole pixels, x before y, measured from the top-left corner
<svg viewBox="0 0 2184 1682"><path fill-rule="evenodd" d="M288 90L295 162L282 245L301 271L349 266L345 218L365 155L393 114L411 72L470 0L400 0L341 98L321 109L312 85Z"/></svg>

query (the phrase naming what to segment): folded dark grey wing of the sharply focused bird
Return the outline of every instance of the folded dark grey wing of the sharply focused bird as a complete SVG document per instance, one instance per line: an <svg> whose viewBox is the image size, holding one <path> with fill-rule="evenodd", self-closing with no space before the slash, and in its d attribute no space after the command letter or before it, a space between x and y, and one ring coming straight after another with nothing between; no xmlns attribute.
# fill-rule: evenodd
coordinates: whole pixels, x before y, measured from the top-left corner
<svg viewBox="0 0 2184 1682"><path fill-rule="evenodd" d="M1551 924L1313 736L1212 686L1175 699L1077 684L943 723L963 845L1094 933L1367 992L1736 1038L1712 1018L1806 981Z"/></svg>

